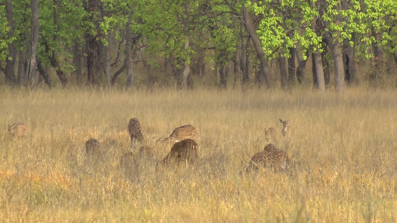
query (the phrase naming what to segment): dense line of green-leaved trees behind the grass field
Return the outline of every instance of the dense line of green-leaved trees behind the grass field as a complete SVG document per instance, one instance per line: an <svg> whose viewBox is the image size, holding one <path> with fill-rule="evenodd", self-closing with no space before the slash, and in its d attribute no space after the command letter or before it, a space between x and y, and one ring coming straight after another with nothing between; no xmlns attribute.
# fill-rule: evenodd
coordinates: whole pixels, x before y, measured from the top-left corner
<svg viewBox="0 0 397 223"><path fill-rule="evenodd" d="M312 62L314 86L324 91L332 71L343 90L355 83L358 62L371 62L369 79L385 63L397 67L396 26L395 0L5 0L0 68L9 85L51 87L52 67L62 85L102 79L110 88L125 72L130 88L134 63L143 63L191 87L210 63L220 87L227 73L244 84L254 72L255 83L272 88L275 61L288 89Z"/></svg>

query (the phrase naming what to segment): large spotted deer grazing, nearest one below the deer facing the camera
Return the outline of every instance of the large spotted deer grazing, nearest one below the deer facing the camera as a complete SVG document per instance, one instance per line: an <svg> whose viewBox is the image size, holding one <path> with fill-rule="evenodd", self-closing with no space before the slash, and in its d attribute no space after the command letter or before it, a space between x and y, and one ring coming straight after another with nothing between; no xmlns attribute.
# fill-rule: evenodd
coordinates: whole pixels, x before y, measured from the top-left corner
<svg viewBox="0 0 397 223"><path fill-rule="evenodd" d="M272 167L276 171L280 171L287 169L288 164L288 156L283 150L277 149L273 144L267 144L262 152L258 152L251 158L245 172L258 171L259 167Z"/></svg>

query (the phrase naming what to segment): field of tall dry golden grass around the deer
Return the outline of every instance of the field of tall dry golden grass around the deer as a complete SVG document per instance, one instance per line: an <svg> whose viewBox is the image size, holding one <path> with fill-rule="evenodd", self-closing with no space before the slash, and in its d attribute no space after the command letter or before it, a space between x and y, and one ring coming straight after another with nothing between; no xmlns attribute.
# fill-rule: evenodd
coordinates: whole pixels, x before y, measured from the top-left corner
<svg viewBox="0 0 397 223"><path fill-rule="evenodd" d="M266 90L0 89L1 222L395 222L397 92L367 88ZM137 159L127 123L146 144L192 124L200 159L160 169ZM268 143L264 129L291 119L273 142L291 158L283 173L243 175ZM25 138L7 124L28 125ZM97 138L102 159L85 154ZM156 148L164 158L170 146Z"/></svg>

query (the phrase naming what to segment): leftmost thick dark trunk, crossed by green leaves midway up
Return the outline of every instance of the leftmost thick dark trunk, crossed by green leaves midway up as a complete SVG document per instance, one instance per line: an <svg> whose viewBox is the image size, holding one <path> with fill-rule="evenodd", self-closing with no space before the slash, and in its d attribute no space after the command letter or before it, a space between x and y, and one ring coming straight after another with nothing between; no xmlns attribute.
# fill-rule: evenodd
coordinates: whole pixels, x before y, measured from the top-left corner
<svg viewBox="0 0 397 223"><path fill-rule="evenodd" d="M10 27L10 30L8 31L7 35L9 38L12 38L14 36L14 24L12 19L12 5L10 0L6 0L6 15L7 15L8 26ZM11 85L16 84L15 71L14 71L15 60L16 60L15 44L14 42L11 42L10 44L8 44L8 56L6 58L6 70L5 70L6 73L4 73L4 75L6 76L6 83Z"/></svg>

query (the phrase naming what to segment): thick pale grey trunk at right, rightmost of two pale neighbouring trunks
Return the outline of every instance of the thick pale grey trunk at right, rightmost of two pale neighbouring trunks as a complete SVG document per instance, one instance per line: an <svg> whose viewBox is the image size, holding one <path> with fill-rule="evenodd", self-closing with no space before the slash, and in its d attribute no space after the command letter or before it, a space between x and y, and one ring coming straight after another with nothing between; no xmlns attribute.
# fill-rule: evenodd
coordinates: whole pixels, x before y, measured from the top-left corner
<svg viewBox="0 0 397 223"><path fill-rule="evenodd" d="M341 47L339 43L337 41L334 42L332 38L327 39L327 44L331 49L335 68L335 90L340 91L345 88L345 69L343 66Z"/></svg>

